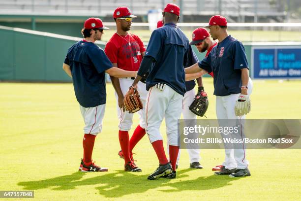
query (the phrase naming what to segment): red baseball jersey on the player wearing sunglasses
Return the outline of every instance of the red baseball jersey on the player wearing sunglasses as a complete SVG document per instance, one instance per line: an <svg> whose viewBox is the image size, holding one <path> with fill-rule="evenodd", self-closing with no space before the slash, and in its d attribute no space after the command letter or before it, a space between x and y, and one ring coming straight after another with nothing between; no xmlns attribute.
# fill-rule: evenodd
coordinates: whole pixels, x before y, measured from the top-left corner
<svg viewBox="0 0 301 201"><path fill-rule="evenodd" d="M123 70L137 71L142 61L142 52L146 48L142 40L134 34L119 35L114 33L107 42L105 53L112 63L117 63Z"/></svg>

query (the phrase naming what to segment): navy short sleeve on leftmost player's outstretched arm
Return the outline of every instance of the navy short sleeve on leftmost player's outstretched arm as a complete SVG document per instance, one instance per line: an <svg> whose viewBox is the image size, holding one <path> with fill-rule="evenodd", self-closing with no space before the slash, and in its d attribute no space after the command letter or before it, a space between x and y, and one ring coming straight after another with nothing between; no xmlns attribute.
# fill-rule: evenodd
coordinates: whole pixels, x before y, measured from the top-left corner
<svg viewBox="0 0 301 201"><path fill-rule="evenodd" d="M102 73L105 70L113 67L113 64L110 62L105 52L98 46L91 48L88 56L98 73Z"/></svg>

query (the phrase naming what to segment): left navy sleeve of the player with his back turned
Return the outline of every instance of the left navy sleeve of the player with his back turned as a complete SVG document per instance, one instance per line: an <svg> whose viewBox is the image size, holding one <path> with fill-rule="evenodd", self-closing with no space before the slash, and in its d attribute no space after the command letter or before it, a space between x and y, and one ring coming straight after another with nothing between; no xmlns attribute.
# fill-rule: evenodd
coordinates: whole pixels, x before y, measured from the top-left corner
<svg viewBox="0 0 301 201"><path fill-rule="evenodd" d="M163 44L163 38L161 33L158 32L158 30L154 30L151 33L151 38L145 56L151 56L157 61L159 53L162 48L162 44Z"/></svg>

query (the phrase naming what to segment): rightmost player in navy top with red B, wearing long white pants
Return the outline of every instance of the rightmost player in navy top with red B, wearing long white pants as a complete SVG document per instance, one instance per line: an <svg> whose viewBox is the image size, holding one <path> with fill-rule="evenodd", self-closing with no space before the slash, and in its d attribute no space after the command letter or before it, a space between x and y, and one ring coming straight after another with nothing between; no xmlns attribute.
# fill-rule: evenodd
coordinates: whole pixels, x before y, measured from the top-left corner
<svg viewBox="0 0 301 201"><path fill-rule="evenodd" d="M237 102L245 102L250 107L248 94L251 94L252 82L249 80L244 47L240 41L227 33L226 18L215 15L211 17L207 27L213 40L218 39L219 42L212 48L208 57L186 68L185 72L213 72L217 119L244 119L244 115L237 116L235 111ZM250 176L245 151L243 143L241 149L225 149L224 168L215 174L229 174L230 177Z"/></svg>

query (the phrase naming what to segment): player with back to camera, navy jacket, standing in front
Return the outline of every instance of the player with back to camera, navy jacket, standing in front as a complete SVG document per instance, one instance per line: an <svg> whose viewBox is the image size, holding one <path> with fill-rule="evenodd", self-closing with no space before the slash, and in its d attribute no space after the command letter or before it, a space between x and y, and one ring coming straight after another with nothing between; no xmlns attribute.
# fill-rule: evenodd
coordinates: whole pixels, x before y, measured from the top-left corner
<svg viewBox="0 0 301 201"><path fill-rule="evenodd" d="M169 3L163 12L164 26L151 33L150 42L133 87L149 70L147 77L146 132L159 160L159 167L148 179L176 178L179 153L177 122L181 117L183 96L186 92L184 66L187 65L189 41L177 27L180 7ZM170 162L167 160L160 125L165 117Z"/></svg>

